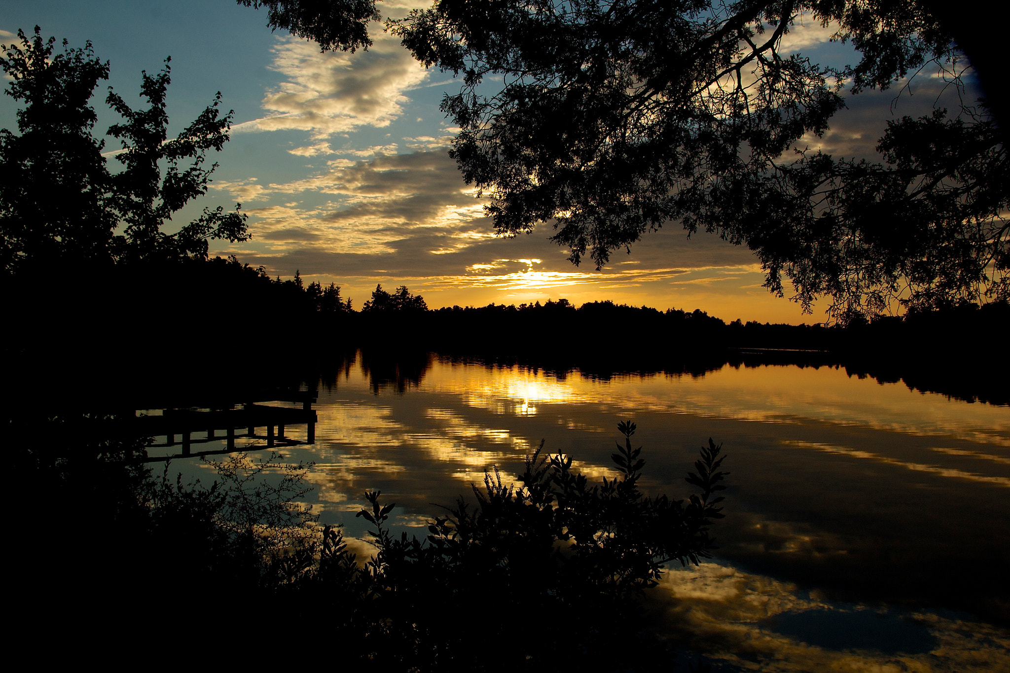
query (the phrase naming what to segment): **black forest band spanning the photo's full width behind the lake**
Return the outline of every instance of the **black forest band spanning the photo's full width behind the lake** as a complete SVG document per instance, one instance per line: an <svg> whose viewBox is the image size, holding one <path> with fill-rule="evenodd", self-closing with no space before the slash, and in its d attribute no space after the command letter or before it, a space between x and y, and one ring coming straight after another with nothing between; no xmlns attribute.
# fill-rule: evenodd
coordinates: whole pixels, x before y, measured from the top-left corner
<svg viewBox="0 0 1010 673"><path fill-rule="evenodd" d="M398 358L433 352L597 377L702 375L727 363L844 366L920 390L1010 404L1006 303L844 327L772 325L609 301L429 309L405 287L380 285L358 310L335 285L305 283L299 273L271 277L233 257L112 266L70 279L18 274L5 286L0 308L19 329L4 332L3 346L22 379L183 384L181 377L217 366L233 369L237 384L243 376L313 376L363 349L373 362L391 358L394 369ZM248 356L265 363L260 371L245 371Z"/></svg>

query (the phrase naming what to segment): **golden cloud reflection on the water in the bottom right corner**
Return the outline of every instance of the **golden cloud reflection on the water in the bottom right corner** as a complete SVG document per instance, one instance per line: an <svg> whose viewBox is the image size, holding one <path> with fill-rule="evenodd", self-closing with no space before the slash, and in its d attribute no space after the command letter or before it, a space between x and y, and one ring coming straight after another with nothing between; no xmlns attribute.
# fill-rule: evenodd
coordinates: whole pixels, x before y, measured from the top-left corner
<svg viewBox="0 0 1010 673"><path fill-rule="evenodd" d="M717 563L675 569L660 608L672 632L737 670L1004 671L1005 630L967 614L845 604Z"/></svg>

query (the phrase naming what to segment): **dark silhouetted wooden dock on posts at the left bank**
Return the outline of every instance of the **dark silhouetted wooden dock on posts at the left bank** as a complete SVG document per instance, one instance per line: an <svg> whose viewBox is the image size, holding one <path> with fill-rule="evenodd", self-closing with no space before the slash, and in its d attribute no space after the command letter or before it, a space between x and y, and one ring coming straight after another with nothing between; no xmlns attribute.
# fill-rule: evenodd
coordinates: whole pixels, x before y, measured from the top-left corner
<svg viewBox="0 0 1010 673"><path fill-rule="evenodd" d="M165 437L164 444L150 444L153 447L181 446L180 454L150 457L144 462L229 453L235 450L236 437L266 439L269 448L278 444L284 446L314 444L315 424L318 422L316 413L312 409L315 399L314 391L303 391L289 394L283 400L283 402L300 402L301 408L272 407L246 402L224 409L163 409L161 415L134 417L130 432L136 437ZM285 436L287 428L300 425L307 426L305 442ZM261 428L264 434L258 434ZM225 440L226 448L223 450L193 452L194 444L216 442L221 439Z"/></svg>

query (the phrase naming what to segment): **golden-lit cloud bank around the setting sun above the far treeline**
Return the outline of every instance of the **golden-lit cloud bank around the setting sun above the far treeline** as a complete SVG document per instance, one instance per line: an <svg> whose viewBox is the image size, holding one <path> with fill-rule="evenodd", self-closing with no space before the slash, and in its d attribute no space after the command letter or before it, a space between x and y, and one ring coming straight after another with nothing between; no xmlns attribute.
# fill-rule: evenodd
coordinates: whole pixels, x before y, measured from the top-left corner
<svg viewBox="0 0 1010 673"><path fill-rule="evenodd" d="M667 294L670 286L658 282L690 279L697 270L731 285L734 278L720 270L739 273L754 266L745 248L704 233L689 241L678 227L650 234L646 244L635 246L634 259L615 255L600 271L573 266L568 252L546 239L549 226L529 236L498 237L484 216L485 201L475 198L441 151L375 154L270 184L262 194L288 203L249 210L254 241L227 252L273 273L299 268L303 275L344 284L359 278L351 286L367 285L365 279L373 287L408 283L424 292L473 290L496 297L644 286ZM307 195L307 205L289 196L300 194ZM313 203L319 196L330 200Z"/></svg>

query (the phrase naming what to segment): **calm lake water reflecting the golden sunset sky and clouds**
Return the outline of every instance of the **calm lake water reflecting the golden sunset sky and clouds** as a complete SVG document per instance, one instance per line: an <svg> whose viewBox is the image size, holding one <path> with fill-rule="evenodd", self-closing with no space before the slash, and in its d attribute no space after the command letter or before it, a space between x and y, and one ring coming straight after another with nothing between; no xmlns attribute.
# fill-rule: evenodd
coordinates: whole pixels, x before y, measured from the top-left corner
<svg viewBox="0 0 1010 673"><path fill-rule="evenodd" d="M379 488L396 525L421 535L431 503L493 465L514 474L540 439L608 475L615 426L631 419L647 491L687 494L709 437L729 456L717 558L669 573L651 606L716 670L1010 670L997 626L1010 596L1010 408L827 367L604 381L433 359L419 373L401 390L356 362L320 388L316 444L285 456L315 463L321 522L364 537L355 513ZM172 467L212 479L196 461Z"/></svg>

